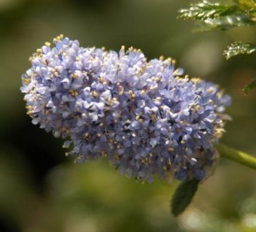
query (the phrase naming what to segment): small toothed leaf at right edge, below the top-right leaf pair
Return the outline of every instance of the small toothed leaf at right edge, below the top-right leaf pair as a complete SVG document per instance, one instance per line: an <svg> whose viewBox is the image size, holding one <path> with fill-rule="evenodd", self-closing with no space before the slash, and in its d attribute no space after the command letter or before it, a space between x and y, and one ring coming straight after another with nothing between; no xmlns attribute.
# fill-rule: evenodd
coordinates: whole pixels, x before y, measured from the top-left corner
<svg viewBox="0 0 256 232"><path fill-rule="evenodd" d="M235 55L250 54L255 52L256 45L251 43L235 42L228 46L227 50L224 50L224 57L230 59Z"/></svg>

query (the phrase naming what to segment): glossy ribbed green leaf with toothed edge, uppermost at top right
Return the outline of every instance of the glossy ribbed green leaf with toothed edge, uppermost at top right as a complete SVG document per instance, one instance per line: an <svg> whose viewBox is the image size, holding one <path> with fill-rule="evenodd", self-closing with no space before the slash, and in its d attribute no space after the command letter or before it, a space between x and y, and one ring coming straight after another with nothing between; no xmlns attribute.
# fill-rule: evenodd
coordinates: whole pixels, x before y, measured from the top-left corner
<svg viewBox="0 0 256 232"><path fill-rule="evenodd" d="M179 18L181 19L215 19L225 15L232 15L239 11L236 5L221 5L220 3L210 3L202 1L190 5L188 9L179 10Z"/></svg>

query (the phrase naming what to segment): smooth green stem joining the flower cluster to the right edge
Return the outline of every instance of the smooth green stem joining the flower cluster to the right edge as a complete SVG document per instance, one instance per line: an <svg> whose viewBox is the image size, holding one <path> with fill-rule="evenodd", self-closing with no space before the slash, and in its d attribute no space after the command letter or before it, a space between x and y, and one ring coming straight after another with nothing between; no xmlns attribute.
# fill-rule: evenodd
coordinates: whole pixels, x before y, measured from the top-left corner
<svg viewBox="0 0 256 232"><path fill-rule="evenodd" d="M256 157L253 157L253 155L248 155L243 151L235 150L223 144L217 144L216 148L222 157L256 170Z"/></svg>

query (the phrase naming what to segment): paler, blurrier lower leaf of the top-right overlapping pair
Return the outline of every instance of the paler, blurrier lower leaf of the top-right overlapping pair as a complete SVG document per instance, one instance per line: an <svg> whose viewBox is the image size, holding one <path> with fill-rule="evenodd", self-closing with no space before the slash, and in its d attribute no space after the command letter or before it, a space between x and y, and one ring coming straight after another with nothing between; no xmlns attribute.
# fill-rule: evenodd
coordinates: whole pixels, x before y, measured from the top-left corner
<svg viewBox="0 0 256 232"><path fill-rule="evenodd" d="M206 19L197 24L195 31L202 32L206 30L213 30L215 28L229 30L233 27L251 26L253 24L254 22L251 21L246 14L235 14L219 17L217 19Z"/></svg>

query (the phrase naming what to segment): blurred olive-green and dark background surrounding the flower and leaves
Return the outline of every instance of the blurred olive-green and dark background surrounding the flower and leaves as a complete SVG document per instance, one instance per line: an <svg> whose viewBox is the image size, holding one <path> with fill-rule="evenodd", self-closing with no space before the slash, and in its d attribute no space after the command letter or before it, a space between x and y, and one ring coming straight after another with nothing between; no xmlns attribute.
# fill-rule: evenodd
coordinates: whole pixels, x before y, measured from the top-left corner
<svg viewBox="0 0 256 232"><path fill-rule="evenodd" d="M82 46L141 48L177 59L190 76L217 82L233 98L222 142L256 155L255 55L225 61L232 41L256 43L256 28L192 33L178 20L188 0L0 0L0 231L256 231L255 171L221 159L179 218L169 213L177 183L140 184L104 160L76 165L61 139L33 126L19 92L28 57L64 34Z"/></svg>

